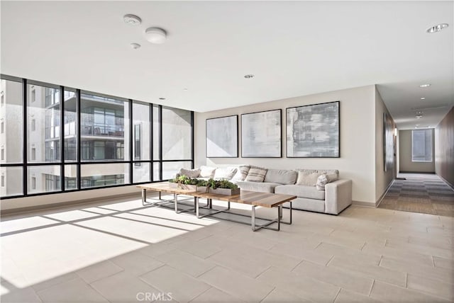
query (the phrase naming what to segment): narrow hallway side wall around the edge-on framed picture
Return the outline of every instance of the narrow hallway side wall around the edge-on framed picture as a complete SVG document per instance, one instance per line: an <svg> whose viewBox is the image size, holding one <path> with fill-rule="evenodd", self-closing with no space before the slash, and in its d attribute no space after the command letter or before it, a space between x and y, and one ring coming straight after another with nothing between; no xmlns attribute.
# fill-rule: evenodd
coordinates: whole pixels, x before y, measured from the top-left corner
<svg viewBox="0 0 454 303"><path fill-rule="evenodd" d="M383 134L383 113L387 113L388 109L382 100L382 96L375 89L375 201L378 202L382 195L386 192L388 186L392 183L395 177L394 168L396 164L396 157L394 156L394 166L384 171L384 134ZM395 123L393 120L393 125ZM396 151L396 139L394 139L394 153Z"/></svg>

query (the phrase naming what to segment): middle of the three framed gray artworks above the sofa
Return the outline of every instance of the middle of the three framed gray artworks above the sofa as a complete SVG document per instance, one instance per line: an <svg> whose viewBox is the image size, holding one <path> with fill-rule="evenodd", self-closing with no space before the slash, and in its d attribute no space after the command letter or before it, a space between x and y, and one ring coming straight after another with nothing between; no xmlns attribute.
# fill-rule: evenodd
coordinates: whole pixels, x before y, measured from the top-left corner
<svg viewBox="0 0 454 303"><path fill-rule="evenodd" d="M241 156L281 157L281 110L241 115Z"/></svg>

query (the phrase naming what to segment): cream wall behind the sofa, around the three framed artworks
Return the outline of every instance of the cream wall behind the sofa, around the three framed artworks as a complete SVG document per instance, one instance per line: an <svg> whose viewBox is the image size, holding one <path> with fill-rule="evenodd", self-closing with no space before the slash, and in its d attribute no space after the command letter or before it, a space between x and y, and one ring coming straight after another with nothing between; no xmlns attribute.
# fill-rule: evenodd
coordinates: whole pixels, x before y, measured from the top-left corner
<svg viewBox="0 0 454 303"><path fill-rule="evenodd" d="M286 158L285 149L285 108L299 105L311 105L341 101L341 158ZM216 101L214 101L216 102ZM205 120L226 115L240 115L262 110L282 108L282 154L283 157L257 158L211 158L206 159L206 131ZM240 116L239 119L241 120ZM267 168L325 168L338 169L341 178L353 181L353 200L375 205L375 86L363 86L342 91L331 91L311 96L288 98L216 110L195 115L195 166L225 165L225 164L253 164ZM241 130L241 123L240 129ZM241 133L241 131L239 131ZM241 135L241 134L240 134ZM239 138L239 142L241 139ZM239 151L241 155L241 149Z"/></svg>

